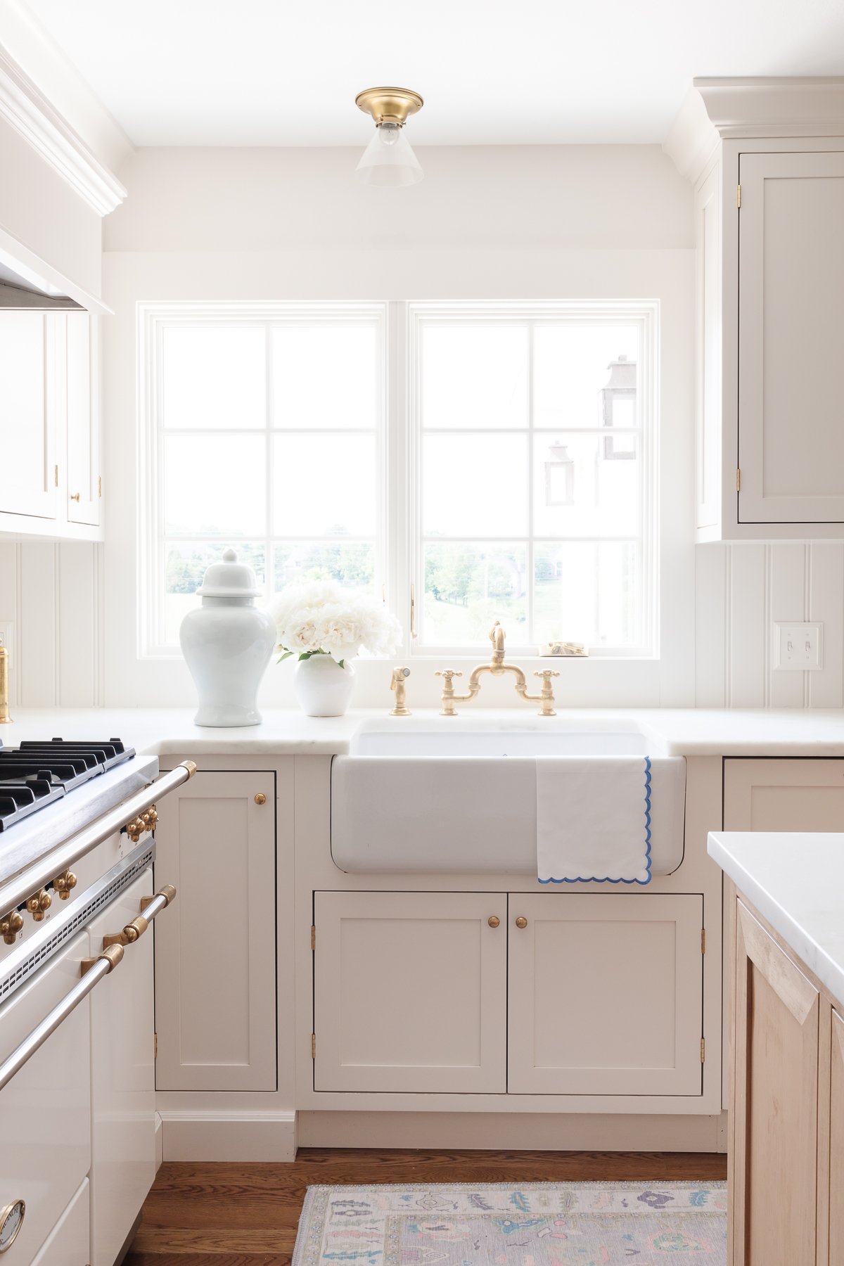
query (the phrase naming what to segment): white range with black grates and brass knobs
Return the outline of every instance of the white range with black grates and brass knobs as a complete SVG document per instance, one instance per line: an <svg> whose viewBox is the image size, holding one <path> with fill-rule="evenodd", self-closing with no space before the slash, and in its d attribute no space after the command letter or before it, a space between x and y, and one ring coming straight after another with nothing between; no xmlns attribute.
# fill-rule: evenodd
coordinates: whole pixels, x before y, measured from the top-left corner
<svg viewBox="0 0 844 1266"><path fill-rule="evenodd" d="M0 743L4 1266L113 1266L152 1184L156 801L194 772L118 738Z"/></svg>

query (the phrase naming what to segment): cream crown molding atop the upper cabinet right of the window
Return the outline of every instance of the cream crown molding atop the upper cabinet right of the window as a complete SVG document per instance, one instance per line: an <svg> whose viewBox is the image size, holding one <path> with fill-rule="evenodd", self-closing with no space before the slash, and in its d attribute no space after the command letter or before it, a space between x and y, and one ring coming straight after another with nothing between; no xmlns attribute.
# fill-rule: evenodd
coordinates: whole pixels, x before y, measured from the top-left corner
<svg viewBox="0 0 844 1266"><path fill-rule="evenodd" d="M844 137L844 77L696 78L663 144L697 181L726 139Z"/></svg>

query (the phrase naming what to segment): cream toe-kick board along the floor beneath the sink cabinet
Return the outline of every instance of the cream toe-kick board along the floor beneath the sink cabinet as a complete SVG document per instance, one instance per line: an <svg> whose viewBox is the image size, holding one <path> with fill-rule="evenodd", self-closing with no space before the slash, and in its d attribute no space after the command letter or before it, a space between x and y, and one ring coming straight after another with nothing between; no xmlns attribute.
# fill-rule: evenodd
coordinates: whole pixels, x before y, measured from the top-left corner
<svg viewBox="0 0 844 1266"><path fill-rule="evenodd" d="M717 1152L720 1117L300 1112L300 1147Z"/></svg>

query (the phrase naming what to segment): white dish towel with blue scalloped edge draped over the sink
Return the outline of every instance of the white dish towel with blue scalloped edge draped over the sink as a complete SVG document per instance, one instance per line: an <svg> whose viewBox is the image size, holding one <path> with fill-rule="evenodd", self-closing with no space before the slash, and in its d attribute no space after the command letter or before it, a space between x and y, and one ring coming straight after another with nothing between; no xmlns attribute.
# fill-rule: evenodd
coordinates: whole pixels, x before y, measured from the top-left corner
<svg viewBox="0 0 844 1266"><path fill-rule="evenodd" d="M685 763L682 757L537 757L539 882L650 882L653 766L677 766L671 774L682 777L685 790Z"/></svg>

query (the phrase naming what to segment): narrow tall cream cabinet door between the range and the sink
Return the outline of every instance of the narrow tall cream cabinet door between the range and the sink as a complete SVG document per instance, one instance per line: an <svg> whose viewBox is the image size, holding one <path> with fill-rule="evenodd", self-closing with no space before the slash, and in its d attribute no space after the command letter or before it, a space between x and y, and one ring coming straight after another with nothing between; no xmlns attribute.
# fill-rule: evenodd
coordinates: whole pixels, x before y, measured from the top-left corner
<svg viewBox="0 0 844 1266"><path fill-rule="evenodd" d="M158 1090L276 1087L276 780L200 772L158 805ZM171 917L172 915L172 917Z"/></svg>

